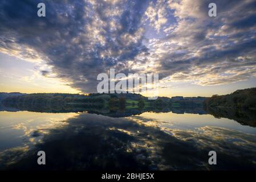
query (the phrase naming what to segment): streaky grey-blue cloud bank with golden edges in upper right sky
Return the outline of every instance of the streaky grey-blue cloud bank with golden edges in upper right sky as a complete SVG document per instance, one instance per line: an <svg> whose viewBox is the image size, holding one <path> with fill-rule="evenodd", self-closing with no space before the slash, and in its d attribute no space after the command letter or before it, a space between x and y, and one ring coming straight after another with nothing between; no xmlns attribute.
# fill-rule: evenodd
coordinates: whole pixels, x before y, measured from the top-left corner
<svg viewBox="0 0 256 182"><path fill-rule="evenodd" d="M209 3L197 0L193 6L184 0L174 6L180 21L172 34L156 45L168 41L181 44L186 54L177 54L178 47L170 45L173 51L166 51L159 59L162 78L174 75L173 80L219 85L256 76L255 1L215 1L216 18L202 13L208 13Z"/></svg>

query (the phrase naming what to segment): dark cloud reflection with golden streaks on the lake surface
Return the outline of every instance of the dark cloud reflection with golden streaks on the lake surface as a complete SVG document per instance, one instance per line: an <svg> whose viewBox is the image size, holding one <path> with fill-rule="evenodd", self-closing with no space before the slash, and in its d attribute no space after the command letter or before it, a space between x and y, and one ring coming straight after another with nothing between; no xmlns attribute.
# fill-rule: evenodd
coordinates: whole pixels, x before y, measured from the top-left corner
<svg viewBox="0 0 256 182"><path fill-rule="evenodd" d="M42 142L5 169L255 169L255 135L222 127L168 129L144 117L110 118L81 113L49 129ZM160 122L159 122L160 123ZM170 135L172 134L172 135ZM47 165L36 164L36 151ZM208 165L208 152L217 165ZM15 153L15 151L13 151ZM21 150L16 151L22 153ZM26 153L26 154L25 154ZM7 156L2 162L9 164ZM5 159L5 161L3 161Z"/></svg>

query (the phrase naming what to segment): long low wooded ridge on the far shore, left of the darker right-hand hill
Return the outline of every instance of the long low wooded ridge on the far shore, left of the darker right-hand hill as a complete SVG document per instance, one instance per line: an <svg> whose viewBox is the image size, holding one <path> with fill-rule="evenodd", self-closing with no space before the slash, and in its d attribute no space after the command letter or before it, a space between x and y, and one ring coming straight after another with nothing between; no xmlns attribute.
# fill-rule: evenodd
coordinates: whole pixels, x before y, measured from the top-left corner
<svg viewBox="0 0 256 182"><path fill-rule="evenodd" d="M155 101L159 102L160 105L169 105L172 102L175 102L176 104L180 105L198 105L202 104L202 102L205 100L205 97L158 97L157 100L148 100L148 97L145 97L141 94L137 93L90 93L87 95L84 94L68 94L68 93L31 93L31 94L25 94L25 93L19 93L19 92L13 92L13 93L0 93L0 104L8 104L10 103L14 104L17 102L26 102L26 103L32 103L34 104L45 104L48 101L51 102L79 102L79 103L88 103L96 104L96 102L103 102L103 101L109 101L110 98L125 98L125 100L133 100L133 101L140 101L144 100L149 103L154 103ZM96 102L95 102L96 101Z"/></svg>

